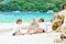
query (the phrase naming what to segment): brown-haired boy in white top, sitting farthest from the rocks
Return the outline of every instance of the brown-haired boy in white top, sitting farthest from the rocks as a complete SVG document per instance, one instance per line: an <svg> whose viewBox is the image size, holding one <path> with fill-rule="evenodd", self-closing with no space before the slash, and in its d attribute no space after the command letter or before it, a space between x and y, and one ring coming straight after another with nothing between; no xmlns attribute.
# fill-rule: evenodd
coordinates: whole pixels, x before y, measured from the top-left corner
<svg viewBox="0 0 66 44"><path fill-rule="evenodd" d="M13 32L12 35L20 35L20 30L21 30L21 24L22 24L22 20L18 19L16 20L16 25L13 28Z"/></svg>

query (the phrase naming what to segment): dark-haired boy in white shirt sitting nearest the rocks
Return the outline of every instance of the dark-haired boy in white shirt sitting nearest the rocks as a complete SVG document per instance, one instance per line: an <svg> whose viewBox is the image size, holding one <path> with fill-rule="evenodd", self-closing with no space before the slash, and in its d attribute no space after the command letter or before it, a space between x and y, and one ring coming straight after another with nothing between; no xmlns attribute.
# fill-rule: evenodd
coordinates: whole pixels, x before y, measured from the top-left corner
<svg viewBox="0 0 66 44"><path fill-rule="evenodd" d="M37 33L43 33L47 31L46 23L44 22L44 19L38 20L38 30L36 30Z"/></svg>

